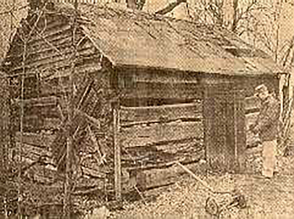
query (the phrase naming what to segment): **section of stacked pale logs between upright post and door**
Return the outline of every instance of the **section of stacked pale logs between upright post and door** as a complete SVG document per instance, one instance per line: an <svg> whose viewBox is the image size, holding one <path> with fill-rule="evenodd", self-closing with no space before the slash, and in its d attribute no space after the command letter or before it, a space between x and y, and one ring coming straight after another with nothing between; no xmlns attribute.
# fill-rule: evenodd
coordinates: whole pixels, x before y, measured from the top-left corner
<svg viewBox="0 0 294 219"><path fill-rule="evenodd" d="M201 105L122 106L122 167L150 169L204 158Z"/></svg>

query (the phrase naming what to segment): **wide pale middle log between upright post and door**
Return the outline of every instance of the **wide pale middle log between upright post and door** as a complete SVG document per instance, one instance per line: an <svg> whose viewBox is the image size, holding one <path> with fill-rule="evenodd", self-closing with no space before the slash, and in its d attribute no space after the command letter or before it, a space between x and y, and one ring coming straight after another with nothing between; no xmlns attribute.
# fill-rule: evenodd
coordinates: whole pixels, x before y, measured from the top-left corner
<svg viewBox="0 0 294 219"><path fill-rule="evenodd" d="M201 138L203 127L201 122L154 123L150 126L136 125L121 127L121 140L124 147L143 147L160 142L176 141L189 138Z"/></svg>

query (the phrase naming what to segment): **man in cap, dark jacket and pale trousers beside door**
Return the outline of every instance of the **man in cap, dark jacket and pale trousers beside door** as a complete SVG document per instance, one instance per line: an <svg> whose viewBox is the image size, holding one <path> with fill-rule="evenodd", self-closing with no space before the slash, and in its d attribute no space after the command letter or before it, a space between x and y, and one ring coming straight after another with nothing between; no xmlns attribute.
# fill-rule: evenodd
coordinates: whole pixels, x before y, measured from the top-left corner
<svg viewBox="0 0 294 219"><path fill-rule="evenodd" d="M261 101L258 118L250 126L253 133L258 133L262 142L262 175L271 178L276 165L277 139L280 124L280 103L269 94L265 85L256 87L256 96Z"/></svg>

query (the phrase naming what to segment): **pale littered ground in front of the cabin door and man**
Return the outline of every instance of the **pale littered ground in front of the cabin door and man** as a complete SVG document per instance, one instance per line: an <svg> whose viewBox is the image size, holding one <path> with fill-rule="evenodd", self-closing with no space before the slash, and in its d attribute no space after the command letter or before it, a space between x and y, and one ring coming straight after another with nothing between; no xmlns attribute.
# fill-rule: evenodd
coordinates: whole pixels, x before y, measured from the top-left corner
<svg viewBox="0 0 294 219"><path fill-rule="evenodd" d="M260 148L254 150L258 154ZM251 167L255 172L218 176L198 174L215 190L237 189L246 198L246 208L224 208L219 218L294 218L294 155L278 157L278 173L272 179L261 177L261 160L258 155L251 159ZM109 217L217 218L205 211L207 198L212 197L217 205L223 206L232 197L230 194L214 195L188 175L176 184L147 190L142 195L143 198L138 196L136 201L124 200L124 209L111 212Z"/></svg>

